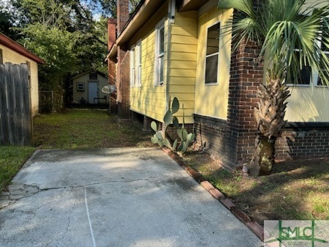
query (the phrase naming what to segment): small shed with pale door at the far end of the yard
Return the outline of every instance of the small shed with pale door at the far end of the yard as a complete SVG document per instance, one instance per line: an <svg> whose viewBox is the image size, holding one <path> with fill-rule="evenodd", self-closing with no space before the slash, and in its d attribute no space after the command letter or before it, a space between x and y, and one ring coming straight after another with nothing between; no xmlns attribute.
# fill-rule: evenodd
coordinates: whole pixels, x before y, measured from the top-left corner
<svg viewBox="0 0 329 247"><path fill-rule="evenodd" d="M77 104L108 104L108 95L101 89L108 85L108 76L99 71L76 75L73 80L73 102Z"/></svg>

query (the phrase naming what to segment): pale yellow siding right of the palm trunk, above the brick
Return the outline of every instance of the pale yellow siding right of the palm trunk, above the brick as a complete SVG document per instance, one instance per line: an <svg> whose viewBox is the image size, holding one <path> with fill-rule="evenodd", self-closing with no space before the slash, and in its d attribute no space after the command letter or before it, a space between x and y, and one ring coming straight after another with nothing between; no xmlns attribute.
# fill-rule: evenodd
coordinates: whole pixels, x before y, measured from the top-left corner
<svg viewBox="0 0 329 247"><path fill-rule="evenodd" d="M285 119L297 122L329 121L329 89L291 86Z"/></svg>

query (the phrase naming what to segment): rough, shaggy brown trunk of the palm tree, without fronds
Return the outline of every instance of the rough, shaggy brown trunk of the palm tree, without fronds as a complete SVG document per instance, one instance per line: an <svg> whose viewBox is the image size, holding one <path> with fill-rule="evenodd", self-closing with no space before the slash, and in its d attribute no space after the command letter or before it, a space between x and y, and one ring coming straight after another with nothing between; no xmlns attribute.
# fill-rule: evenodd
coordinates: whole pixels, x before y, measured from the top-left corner
<svg viewBox="0 0 329 247"><path fill-rule="evenodd" d="M269 175L275 163L276 139L281 137L284 125L286 99L289 90L284 85L284 74L278 67L267 71L266 85L260 85L257 92L258 107L255 108L258 134L255 141L255 150L252 161L249 163L249 172L253 176Z"/></svg>

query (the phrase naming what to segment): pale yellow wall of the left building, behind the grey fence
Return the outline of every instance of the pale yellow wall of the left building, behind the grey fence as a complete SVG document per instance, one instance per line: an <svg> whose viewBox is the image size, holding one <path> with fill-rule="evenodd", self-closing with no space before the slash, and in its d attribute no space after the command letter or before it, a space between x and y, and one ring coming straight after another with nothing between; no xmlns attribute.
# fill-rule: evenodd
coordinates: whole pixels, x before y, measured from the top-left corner
<svg viewBox="0 0 329 247"><path fill-rule="evenodd" d="M25 56L0 45L3 53L3 63L11 62L12 64L30 63L31 66L31 103L32 103L32 115L36 115L39 112L39 84L38 84L38 64Z"/></svg>

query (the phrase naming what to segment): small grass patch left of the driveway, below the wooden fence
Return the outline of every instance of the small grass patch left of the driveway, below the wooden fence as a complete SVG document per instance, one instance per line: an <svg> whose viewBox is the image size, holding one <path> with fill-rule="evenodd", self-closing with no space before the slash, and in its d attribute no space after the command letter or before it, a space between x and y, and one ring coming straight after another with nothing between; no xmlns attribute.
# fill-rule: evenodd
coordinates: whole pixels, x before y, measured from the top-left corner
<svg viewBox="0 0 329 247"><path fill-rule="evenodd" d="M10 184L34 150L32 147L0 146L0 191Z"/></svg>

